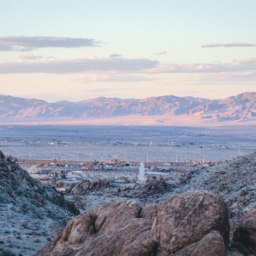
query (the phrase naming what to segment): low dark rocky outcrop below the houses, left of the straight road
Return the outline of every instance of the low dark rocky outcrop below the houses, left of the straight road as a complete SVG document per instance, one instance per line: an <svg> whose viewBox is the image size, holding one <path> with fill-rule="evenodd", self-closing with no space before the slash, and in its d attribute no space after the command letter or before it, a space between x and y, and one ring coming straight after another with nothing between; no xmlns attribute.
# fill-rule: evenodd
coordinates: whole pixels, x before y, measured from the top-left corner
<svg viewBox="0 0 256 256"><path fill-rule="evenodd" d="M69 188L65 191L67 195L81 194L82 196L92 191L99 191L100 189L111 188L108 181L90 181L84 180L81 183L71 183Z"/></svg>

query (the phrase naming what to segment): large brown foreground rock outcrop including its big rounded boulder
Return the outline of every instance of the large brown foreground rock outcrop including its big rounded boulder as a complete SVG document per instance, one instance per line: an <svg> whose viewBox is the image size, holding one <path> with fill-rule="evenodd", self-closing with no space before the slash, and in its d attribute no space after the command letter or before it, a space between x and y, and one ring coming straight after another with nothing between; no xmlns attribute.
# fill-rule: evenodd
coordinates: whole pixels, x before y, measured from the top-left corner
<svg viewBox="0 0 256 256"><path fill-rule="evenodd" d="M172 196L141 210L119 201L84 212L35 256L224 256L228 209L206 191Z"/></svg>

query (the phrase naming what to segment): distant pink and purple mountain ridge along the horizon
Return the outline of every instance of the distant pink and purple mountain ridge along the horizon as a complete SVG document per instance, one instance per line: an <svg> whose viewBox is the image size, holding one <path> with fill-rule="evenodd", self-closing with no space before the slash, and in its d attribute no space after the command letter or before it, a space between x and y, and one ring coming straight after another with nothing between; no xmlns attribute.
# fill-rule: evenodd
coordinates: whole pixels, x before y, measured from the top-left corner
<svg viewBox="0 0 256 256"><path fill-rule="evenodd" d="M103 118L118 116L200 116L210 121L256 120L256 92L209 100L166 95L145 99L98 97L79 102L48 103L0 95L0 118Z"/></svg>

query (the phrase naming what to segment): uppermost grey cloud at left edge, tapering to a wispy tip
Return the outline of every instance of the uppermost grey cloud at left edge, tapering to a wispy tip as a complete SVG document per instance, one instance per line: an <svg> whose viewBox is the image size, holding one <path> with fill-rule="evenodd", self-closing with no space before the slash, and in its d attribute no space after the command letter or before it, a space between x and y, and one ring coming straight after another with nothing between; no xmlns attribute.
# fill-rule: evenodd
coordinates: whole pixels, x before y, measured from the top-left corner
<svg viewBox="0 0 256 256"><path fill-rule="evenodd" d="M0 51L31 51L45 47L95 47L101 41L88 38L56 36L0 36Z"/></svg>

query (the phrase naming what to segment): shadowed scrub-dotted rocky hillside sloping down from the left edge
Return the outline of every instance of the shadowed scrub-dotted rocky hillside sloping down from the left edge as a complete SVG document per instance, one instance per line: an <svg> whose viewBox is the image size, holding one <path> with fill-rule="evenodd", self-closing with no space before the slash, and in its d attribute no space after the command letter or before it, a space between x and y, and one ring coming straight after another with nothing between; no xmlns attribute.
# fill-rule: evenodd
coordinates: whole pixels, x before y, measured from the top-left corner
<svg viewBox="0 0 256 256"><path fill-rule="evenodd" d="M0 255L33 255L80 213L63 193L32 179L2 151L0 212Z"/></svg>

